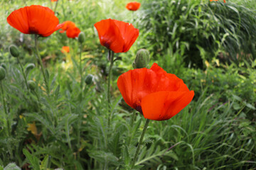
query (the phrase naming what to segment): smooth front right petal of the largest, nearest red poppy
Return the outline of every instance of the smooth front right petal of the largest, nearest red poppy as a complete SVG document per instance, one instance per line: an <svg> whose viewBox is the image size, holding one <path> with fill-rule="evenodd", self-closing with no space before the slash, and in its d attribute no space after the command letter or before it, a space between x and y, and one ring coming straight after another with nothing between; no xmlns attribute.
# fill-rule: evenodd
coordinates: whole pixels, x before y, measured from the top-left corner
<svg viewBox="0 0 256 170"><path fill-rule="evenodd" d="M193 99L194 91L159 91L142 98L144 118L150 120L168 120Z"/></svg>

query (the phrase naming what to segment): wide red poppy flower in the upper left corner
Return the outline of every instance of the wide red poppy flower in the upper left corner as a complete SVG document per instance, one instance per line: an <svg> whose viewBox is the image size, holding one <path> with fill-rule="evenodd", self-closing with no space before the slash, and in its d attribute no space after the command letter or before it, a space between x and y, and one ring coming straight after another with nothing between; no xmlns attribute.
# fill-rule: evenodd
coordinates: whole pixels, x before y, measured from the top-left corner
<svg viewBox="0 0 256 170"><path fill-rule="evenodd" d="M63 26L50 8L39 5L25 6L13 11L7 17L7 22L21 33L43 37L48 37Z"/></svg>

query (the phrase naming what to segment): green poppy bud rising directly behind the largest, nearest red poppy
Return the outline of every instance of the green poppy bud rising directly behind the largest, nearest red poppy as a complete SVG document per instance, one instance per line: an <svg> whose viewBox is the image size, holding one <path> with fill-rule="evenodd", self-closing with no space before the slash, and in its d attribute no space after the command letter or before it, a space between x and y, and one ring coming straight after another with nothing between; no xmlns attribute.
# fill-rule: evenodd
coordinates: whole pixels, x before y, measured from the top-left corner
<svg viewBox="0 0 256 170"><path fill-rule="evenodd" d="M134 63L132 64L132 67L134 69L141 69L141 68L148 68L149 67L149 51L146 49L141 49L137 52L136 58L134 60Z"/></svg>

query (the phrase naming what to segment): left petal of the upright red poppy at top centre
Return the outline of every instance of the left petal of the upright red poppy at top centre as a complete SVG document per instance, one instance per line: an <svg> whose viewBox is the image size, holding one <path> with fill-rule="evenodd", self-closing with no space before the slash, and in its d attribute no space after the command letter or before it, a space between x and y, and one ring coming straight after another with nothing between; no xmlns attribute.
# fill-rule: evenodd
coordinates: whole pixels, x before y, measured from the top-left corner
<svg viewBox="0 0 256 170"><path fill-rule="evenodd" d="M102 20L95 23L94 26L97 29L101 45L113 52L122 52L124 40L119 28L112 19Z"/></svg>

